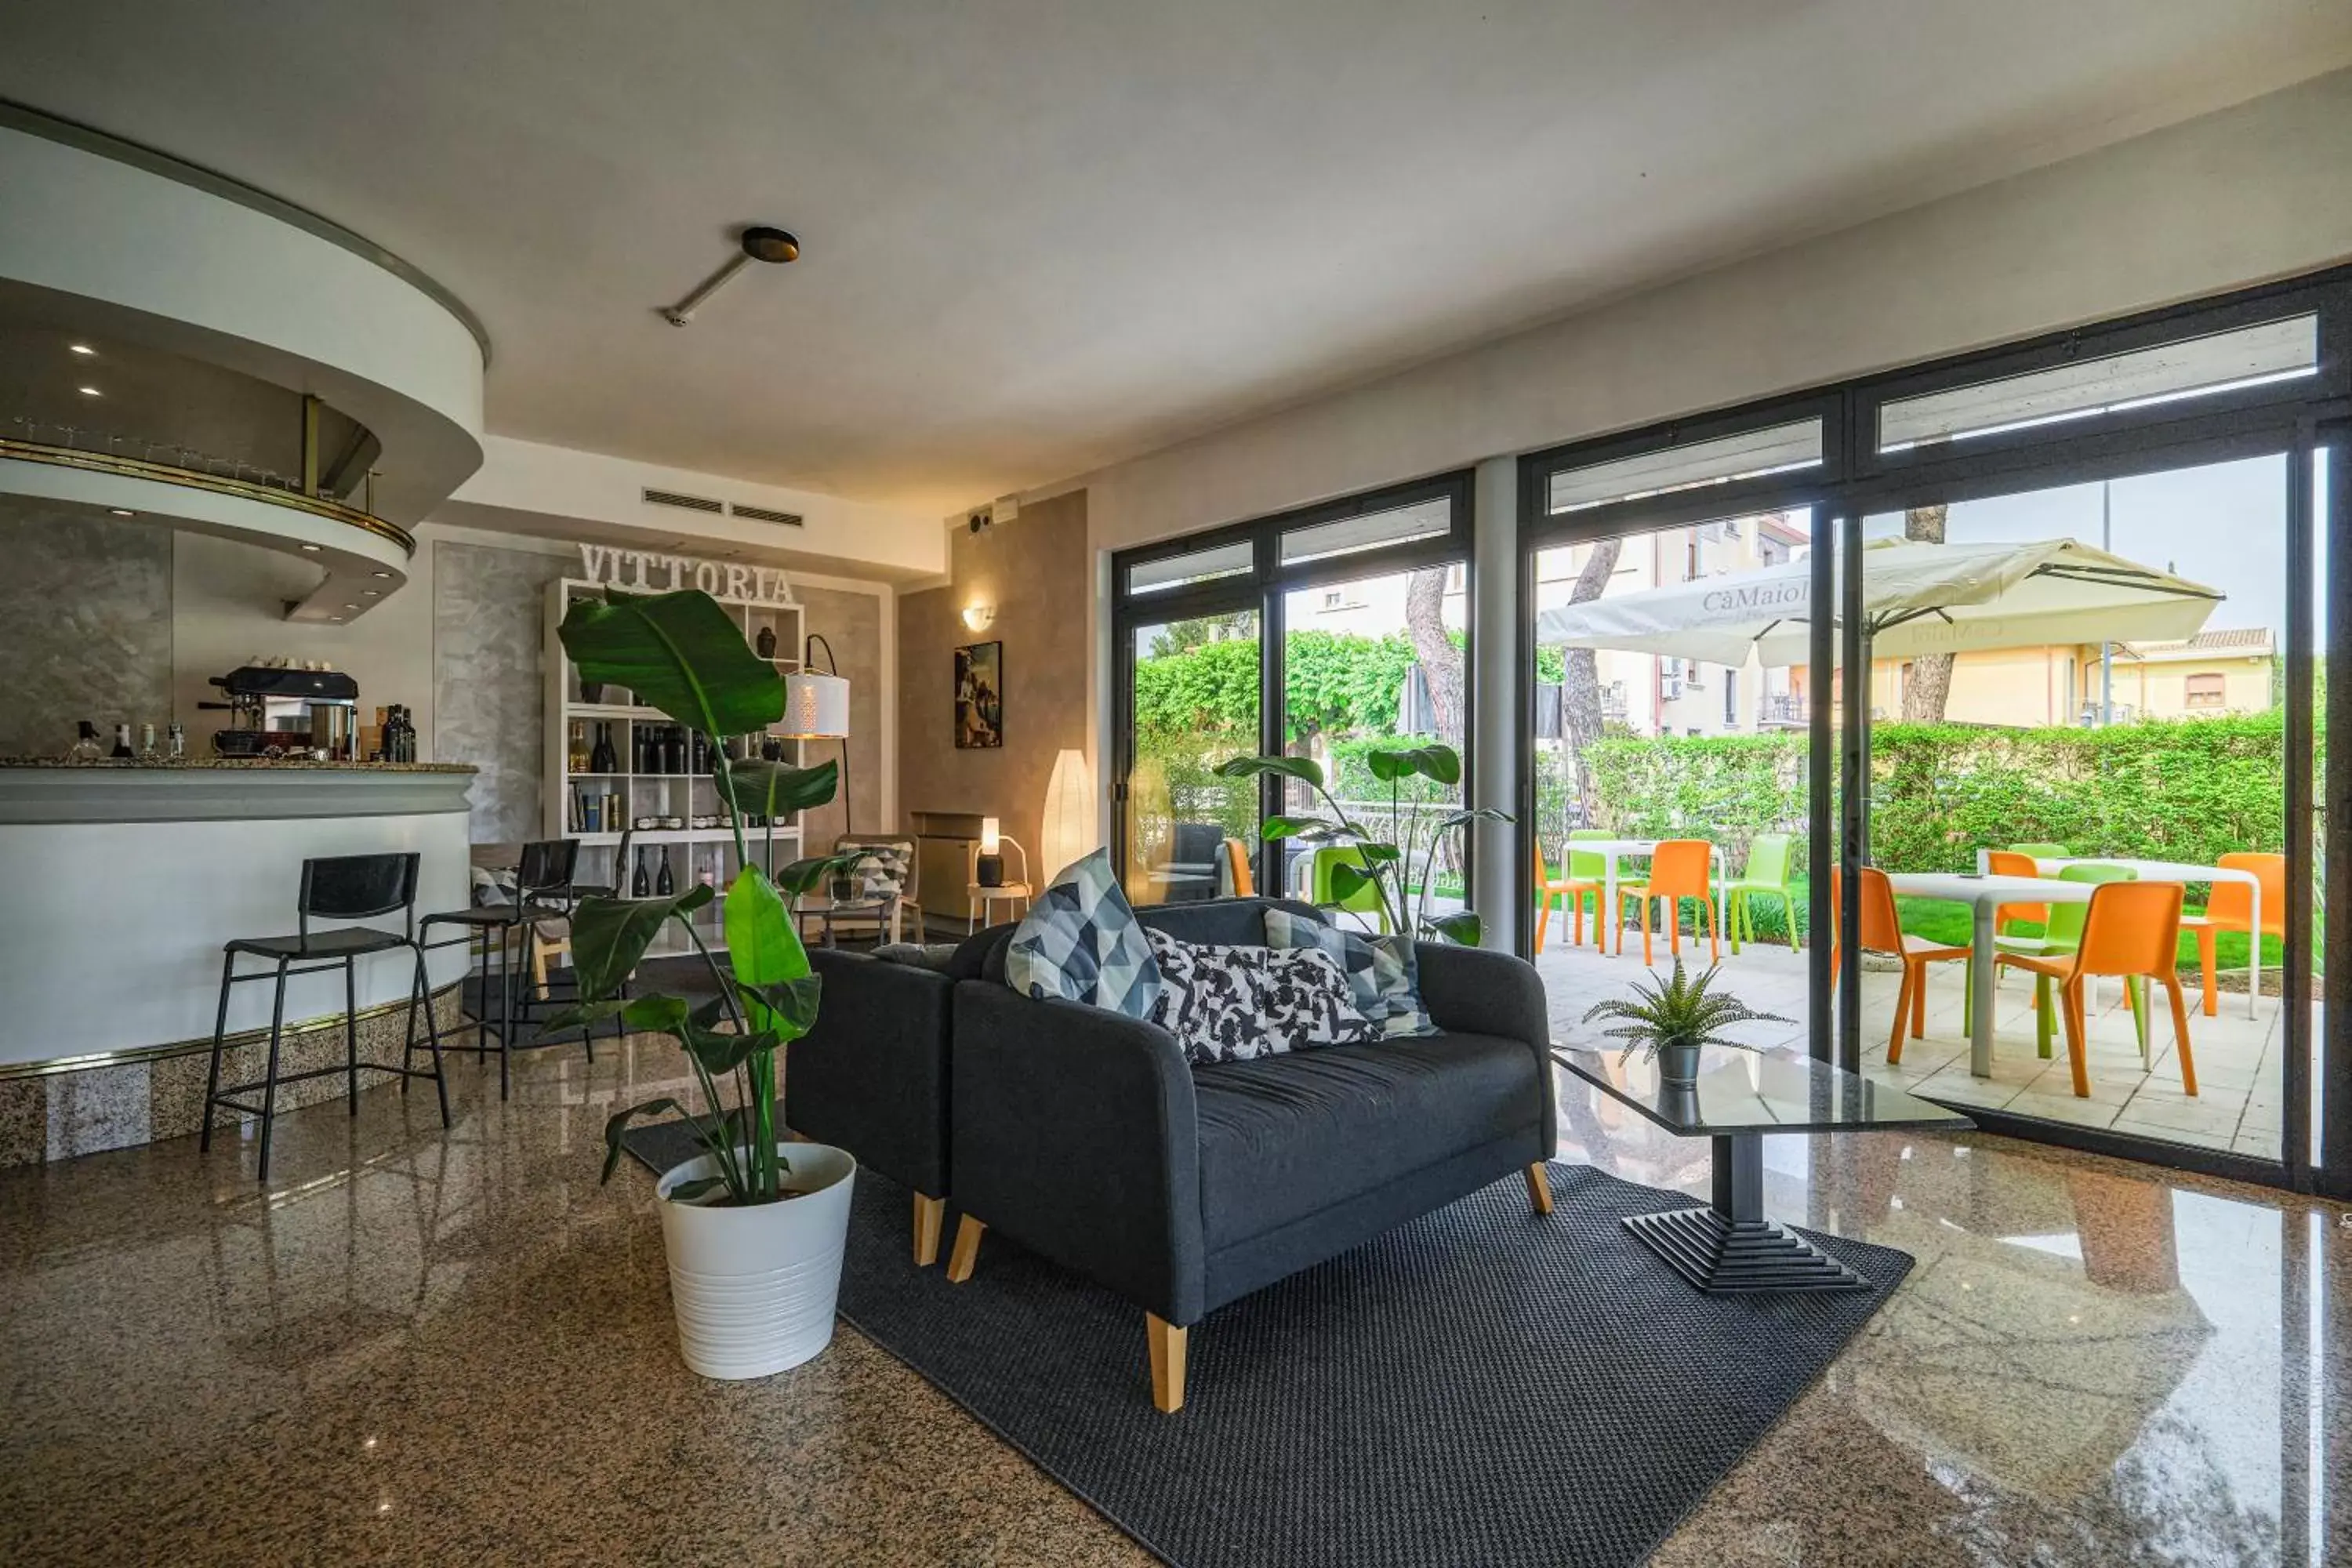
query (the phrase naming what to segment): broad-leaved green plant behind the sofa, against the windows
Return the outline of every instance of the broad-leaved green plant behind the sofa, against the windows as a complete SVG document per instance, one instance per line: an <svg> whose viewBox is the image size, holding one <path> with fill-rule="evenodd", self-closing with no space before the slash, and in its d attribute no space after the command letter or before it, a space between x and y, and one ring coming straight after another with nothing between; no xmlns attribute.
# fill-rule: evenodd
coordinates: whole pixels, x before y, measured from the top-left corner
<svg viewBox="0 0 2352 1568"><path fill-rule="evenodd" d="M1404 820L1402 783L1406 778L1430 778L1439 785L1458 785L1463 780L1463 759L1451 745L1397 745L1364 752L1364 766L1371 776L1388 785L1388 820ZM1496 811L1494 806L1456 809L1442 813L1428 827L1428 842L1421 839L1421 813L1411 816L1404 830L1404 844L1390 844L1374 837L1364 825L1348 816L1348 809L1338 804L1338 797L1324 785L1322 764L1312 757L1232 757L1216 766L1221 778L1256 778L1272 773L1277 778L1296 778L1298 783L1315 790L1322 797L1327 816L1270 816L1261 830L1268 839L1298 839L1303 844L1341 844L1355 849L1355 863L1338 863L1331 867L1331 898L1341 907L1352 907L1355 898L1367 889L1378 900L1381 912L1392 922L1392 931L1406 936L1446 938L1449 943L1461 943L1463 947L1477 947L1484 936L1484 924L1470 910L1458 910L1454 914L1430 917L1430 882L1437 875L1437 851L1444 846L1449 835L1461 832L1470 823L1508 823L1512 816L1508 811ZM1414 853L1421 851L1421 879L1414 879ZM1418 900L1414 889L1421 889Z"/></svg>

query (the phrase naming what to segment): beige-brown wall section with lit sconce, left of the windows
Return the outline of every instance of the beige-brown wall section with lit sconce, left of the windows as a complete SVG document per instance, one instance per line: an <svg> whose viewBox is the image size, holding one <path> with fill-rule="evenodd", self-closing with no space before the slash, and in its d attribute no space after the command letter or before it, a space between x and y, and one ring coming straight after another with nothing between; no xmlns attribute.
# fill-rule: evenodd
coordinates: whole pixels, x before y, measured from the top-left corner
<svg viewBox="0 0 2352 1568"><path fill-rule="evenodd" d="M948 588L898 599L898 804L995 816L1035 856L1054 757L1087 748L1087 494L1023 505L978 536L957 527L948 574ZM967 630L969 604L995 604L995 623ZM967 642L1004 644L1002 750L955 750L950 679ZM1033 860L1030 879L1056 870ZM960 889L927 889L924 903L931 914L962 914Z"/></svg>

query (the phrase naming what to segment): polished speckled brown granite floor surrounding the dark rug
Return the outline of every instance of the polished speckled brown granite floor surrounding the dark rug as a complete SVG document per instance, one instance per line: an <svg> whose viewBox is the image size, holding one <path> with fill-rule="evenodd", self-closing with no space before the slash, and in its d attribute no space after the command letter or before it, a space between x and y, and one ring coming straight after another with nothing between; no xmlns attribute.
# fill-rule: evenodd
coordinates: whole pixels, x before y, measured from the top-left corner
<svg viewBox="0 0 2352 1568"><path fill-rule="evenodd" d="M677 1077L543 1051L501 1105L468 1063L452 1133L285 1117L266 1190L238 1140L0 1173L0 1563L1145 1561L849 1328L684 1371L649 1182L597 1185ZM1705 1187L1590 1091L1562 1119ZM2352 1563L2345 1211L1976 1135L1766 1161L1776 1218L1919 1267L1658 1563Z"/></svg>

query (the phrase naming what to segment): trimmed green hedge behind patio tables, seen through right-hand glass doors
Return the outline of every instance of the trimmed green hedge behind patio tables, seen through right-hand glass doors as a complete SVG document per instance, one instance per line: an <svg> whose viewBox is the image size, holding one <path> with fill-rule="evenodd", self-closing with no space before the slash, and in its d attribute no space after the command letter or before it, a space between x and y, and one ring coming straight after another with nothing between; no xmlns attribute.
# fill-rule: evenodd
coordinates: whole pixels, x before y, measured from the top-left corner
<svg viewBox="0 0 2352 1568"><path fill-rule="evenodd" d="M1710 837L1733 865L1757 832L1804 835L1802 733L1602 741L1588 764L1602 825L1618 832ZM1870 780L1870 858L1896 870L1976 870L1978 849L2025 839L2201 865L2286 846L2279 712L2107 729L1875 724Z"/></svg>

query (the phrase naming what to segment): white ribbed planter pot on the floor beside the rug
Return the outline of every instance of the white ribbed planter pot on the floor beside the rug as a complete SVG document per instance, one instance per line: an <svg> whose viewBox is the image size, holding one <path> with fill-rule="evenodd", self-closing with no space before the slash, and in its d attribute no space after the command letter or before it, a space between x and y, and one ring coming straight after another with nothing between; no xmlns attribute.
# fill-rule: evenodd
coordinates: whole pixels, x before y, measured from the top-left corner
<svg viewBox="0 0 2352 1568"><path fill-rule="evenodd" d="M783 1204L673 1204L677 1182L715 1173L708 1154L654 1187L677 1349L703 1378L767 1378L833 1342L858 1161L823 1143L788 1143L783 1157L793 1166L783 1185L802 1194Z"/></svg>

